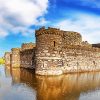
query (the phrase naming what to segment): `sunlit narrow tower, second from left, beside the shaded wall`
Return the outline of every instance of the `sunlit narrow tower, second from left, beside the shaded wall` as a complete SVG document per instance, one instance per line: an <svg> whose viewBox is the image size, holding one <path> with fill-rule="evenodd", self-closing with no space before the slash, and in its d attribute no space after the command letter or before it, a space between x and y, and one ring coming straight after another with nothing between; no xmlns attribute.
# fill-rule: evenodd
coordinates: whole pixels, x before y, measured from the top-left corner
<svg viewBox="0 0 100 100"><path fill-rule="evenodd" d="M20 67L20 48L12 48L11 66Z"/></svg>

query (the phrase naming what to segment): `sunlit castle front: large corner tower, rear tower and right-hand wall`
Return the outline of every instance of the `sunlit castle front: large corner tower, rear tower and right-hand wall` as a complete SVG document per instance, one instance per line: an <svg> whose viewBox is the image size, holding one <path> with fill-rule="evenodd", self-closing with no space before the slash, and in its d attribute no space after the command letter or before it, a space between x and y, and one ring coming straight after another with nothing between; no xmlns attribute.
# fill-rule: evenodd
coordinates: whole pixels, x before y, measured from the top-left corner
<svg viewBox="0 0 100 100"><path fill-rule="evenodd" d="M100 70L100 49L77 32L55 28L36 31L36 74L59 75Z"/></svg>

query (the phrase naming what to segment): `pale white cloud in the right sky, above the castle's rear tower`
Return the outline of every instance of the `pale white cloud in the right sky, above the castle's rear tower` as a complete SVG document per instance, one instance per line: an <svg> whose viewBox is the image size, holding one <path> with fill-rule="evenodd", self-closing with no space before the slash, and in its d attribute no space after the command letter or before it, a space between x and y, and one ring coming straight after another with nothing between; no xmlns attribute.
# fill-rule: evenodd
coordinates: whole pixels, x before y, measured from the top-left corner
<svg viewBox="0 0 100 100"><path fill-rule="evenodd" d="M64 19L55 26L66 31L80 32L83 40L100 43L100 17L88 14L74 14L73 18Z"/></svg>

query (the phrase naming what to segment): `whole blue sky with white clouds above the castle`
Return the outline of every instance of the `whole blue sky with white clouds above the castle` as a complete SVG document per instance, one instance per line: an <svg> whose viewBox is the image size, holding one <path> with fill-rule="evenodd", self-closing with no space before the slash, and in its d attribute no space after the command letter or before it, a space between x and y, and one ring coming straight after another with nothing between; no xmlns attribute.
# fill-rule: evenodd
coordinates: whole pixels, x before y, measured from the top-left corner
<svg viewBox="0 0 100 100"><path fill-rule="evenodd" d="M100 0L0 0L0 56L35 42L41 26L77 31L83 41L100 43Z"/></svg>

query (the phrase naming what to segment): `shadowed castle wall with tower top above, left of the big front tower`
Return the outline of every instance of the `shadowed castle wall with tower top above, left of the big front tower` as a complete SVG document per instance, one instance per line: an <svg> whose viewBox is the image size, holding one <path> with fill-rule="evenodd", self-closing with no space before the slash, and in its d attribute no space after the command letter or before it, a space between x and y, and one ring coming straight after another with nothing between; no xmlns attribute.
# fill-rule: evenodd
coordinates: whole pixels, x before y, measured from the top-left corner
<svg viewBox="0 0 100 100"><path fill-rule="evenodd" d="M20 59L21 59L21 67L24 68L32 68L32 62L34 55L35 44L30 43L23 43L21 46L21 52L20 52Z"/></svg>

